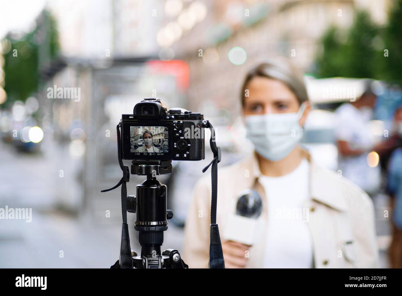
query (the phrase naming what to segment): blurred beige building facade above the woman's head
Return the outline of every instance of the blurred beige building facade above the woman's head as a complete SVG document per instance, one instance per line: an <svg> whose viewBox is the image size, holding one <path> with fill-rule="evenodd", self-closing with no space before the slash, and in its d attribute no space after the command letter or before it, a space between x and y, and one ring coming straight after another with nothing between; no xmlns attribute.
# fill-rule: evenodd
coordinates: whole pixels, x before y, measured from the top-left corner
<svg viewBox="0 0 402 296"><path fill-rule="evenodd" d="M266 58L285 56L304 72L314 69L320 37L330 26L347 28L355 10L368 10L382 24L392 1L289 0L208 1L205 21L172 44L191 69L191 108L204 113L228 108L233 121L240 110L240 87L246 71ZM228 59L230 49L242 47L241 66ZM203 56L199 56L199 51ZM231 87L222 87L222 85ZM214 107L211 107L213 105Z"/></svg>

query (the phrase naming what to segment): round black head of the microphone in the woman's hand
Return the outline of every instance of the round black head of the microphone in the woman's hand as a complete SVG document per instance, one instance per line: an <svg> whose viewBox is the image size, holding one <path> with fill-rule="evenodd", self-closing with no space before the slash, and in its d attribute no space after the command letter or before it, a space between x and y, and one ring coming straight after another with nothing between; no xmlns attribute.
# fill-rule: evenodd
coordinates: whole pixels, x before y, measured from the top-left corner
<svg viewBox="0 0 402 296"><path fill-rule="evenodd" d="M262 209L263 201L257 191L248 189L240 193L236 204L236 215L256 219L260 216Z"/></svg>

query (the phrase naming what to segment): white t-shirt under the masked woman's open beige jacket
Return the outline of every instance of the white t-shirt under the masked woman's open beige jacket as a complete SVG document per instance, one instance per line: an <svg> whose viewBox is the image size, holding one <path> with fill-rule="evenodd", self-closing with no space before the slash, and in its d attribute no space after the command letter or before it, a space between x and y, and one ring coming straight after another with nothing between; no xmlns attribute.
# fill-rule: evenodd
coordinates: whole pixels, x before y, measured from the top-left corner
<svg viewBox="0 0 402 296"><path fill-rule="evenodd" d="M309 163L304 158L281 177L261 175L268 203L265 268L312 268L313 246L308 226Z"/></svg>

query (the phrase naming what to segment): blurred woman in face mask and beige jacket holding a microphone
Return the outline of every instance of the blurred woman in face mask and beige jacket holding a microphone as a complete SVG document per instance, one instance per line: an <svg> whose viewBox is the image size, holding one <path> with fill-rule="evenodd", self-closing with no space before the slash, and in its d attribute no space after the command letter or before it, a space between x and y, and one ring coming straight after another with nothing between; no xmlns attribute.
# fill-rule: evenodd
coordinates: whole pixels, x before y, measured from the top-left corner
<svg viewBox="0 0 402 296"><path fill-rule="evenodd" d="M226 268L376 267L371 199L298 145L311 109L302 76L287 60L262 63L248 72L241 100L255 152L219 169L217 222ZM263 203L252 246L225 239L228 217L246 189L257 191ZM205 177L195 187L186 222L189 267L208 267L210 203ZM283 214L297 210L305 214Z"/></svg>

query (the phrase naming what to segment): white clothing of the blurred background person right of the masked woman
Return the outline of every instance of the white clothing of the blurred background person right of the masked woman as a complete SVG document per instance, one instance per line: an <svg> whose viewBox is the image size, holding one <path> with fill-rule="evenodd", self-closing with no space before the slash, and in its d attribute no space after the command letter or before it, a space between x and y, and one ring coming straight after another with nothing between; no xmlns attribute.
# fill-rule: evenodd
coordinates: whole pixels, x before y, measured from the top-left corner
<svg viewBox="0 0 402 296"><path fill-rule="evenodd" d="M335 111L337 140L349 142L352 149L370 149L373 147L369 134L369 116L349 103L341 105ZM338 157L338 167L342 176L371 193L378 189L381 180L379 165L370 167L367 164L367 153L356 156Z"/></svg>

